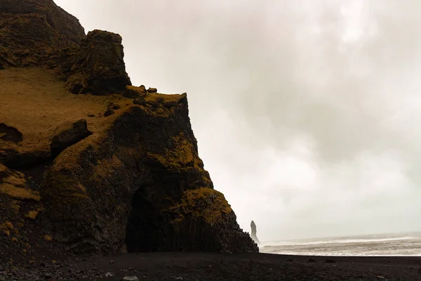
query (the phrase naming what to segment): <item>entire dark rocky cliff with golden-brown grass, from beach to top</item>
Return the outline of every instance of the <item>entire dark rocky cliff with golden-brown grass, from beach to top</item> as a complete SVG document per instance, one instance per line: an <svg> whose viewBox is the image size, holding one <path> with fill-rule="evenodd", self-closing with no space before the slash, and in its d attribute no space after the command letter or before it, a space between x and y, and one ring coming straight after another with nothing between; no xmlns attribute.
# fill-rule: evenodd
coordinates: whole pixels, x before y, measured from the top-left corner
<svg viewBox="0 0 421 281"><path fill-rule="evenodd" d="M121 37L0 3L0 251L258 251L199 158L187 94L131 86Z"/></svg>

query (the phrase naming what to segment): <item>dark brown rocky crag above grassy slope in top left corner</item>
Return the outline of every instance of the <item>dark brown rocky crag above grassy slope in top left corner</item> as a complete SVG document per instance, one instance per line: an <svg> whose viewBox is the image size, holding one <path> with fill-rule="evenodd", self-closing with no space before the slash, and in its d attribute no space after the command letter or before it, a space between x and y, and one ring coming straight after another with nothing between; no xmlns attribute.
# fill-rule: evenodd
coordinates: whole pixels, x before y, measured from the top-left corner
<svg viewBox="0 0 421 281"><path fill-rule="evenodd" d="M79 20L52 0L0 1L0 68L39 65L84 37Z"/></svg>

